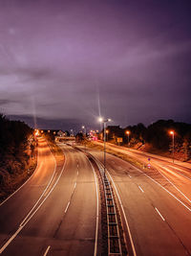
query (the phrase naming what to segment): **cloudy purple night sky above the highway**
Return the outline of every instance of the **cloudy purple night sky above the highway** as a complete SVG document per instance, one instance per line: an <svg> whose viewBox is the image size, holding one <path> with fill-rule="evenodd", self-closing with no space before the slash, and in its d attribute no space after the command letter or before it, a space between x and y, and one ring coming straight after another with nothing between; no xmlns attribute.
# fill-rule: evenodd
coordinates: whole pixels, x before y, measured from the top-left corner
<svg viewBox="0 0 191 256"><path fill-rule="evenodd" d="M190 13L190 0L1 0L0 112L41 128L191 123Z"/></svg>

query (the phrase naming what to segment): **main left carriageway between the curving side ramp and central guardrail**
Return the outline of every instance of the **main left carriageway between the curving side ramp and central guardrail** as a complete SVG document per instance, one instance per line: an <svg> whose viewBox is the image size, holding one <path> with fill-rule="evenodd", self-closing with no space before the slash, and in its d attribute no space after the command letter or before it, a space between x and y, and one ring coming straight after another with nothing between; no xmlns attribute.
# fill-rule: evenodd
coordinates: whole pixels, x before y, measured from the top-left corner
<svg viewBox="0 0 191 256"><path fill-rule="evenodd" d="M94 255L95 176L82 152L62 148L66 164L58 183L3 255Z"/></svg>

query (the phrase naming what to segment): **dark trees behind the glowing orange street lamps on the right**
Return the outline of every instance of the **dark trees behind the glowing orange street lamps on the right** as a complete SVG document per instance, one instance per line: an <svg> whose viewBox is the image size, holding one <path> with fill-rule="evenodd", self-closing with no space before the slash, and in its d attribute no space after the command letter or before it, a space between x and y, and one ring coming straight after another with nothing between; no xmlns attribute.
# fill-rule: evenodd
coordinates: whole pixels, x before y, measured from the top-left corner
<svg viewBox="0 0 191 256"><path fill-rule="evenodd" d="M108 127L108 140L117 143L117 137L123 138L123 144L128 143L129 147L143 148L147 147L154 151L172 151L172 135L175 133L175 151L182 155L181 158L191 157L191 125L174 122L173 120L159 120L148 127L143 124L128 126L126 128Z"/></svg>

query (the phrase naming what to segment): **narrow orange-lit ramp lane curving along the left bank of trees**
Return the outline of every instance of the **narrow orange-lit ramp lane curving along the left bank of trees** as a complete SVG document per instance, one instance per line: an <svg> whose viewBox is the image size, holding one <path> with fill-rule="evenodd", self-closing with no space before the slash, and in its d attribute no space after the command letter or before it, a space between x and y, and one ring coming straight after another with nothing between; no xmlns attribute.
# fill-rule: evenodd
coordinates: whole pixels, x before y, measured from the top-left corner
<svg viewBox="0 0 191 256"><path fill-rule="evenodd" d="M44 165L43 163L49 163ZM55 161L47 143L39 140L38 166L32 178L11 198L0 206L0 244L11 237L19 223L30 212L32 206L42 195L55 169Z"/></svg>

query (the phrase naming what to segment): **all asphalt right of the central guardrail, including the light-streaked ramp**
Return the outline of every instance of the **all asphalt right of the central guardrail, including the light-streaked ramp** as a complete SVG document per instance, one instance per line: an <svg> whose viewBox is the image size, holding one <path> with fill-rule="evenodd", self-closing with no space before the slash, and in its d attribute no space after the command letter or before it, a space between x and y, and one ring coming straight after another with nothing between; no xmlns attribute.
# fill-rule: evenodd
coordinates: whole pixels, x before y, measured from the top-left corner
<svg viewBox="0 0 191 256"><path fill-rule="evenodd" d="M90 152L103 163L102 151ZM135 157L142 160L139 155ZM191 255L188 168L171 166L164 159L153 163L152 159L152 168L142 172L114 155L107 154L106 159L106 168L114 180L124 210L126 234L128 237L128 226L135 246L134 255ZM163 167L170 172L161 173L161 170L165 171ZM185 176L181 172L186 172Z"/></svg>

